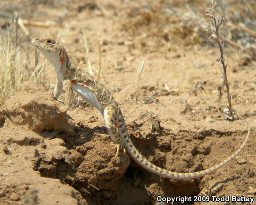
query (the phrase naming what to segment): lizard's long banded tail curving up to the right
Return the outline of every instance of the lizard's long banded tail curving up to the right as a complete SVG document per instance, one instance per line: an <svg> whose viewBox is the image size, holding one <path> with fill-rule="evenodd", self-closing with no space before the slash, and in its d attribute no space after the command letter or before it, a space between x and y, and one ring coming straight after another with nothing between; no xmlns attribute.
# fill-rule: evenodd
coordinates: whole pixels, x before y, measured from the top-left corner
<svg viewBox="0 0 256 205"><path fill-rule="evenodd" d="M129 134L126 131L125 125L123 124L123 122L121 122L120 118L118 120L118 124L119 124L118 127L121 127L119 132L120 132L121 138L124 142L124 147L125 147L126 151L129 153L129 155L132 157L132 159L137 164L139 164L140 166L142 166L144 169L148 170L149 172L157 174L158 176L165 177L165 178L170 178L170 179L178 179L178 180L179 179L189 180L189 179L202 177L206 174L215 172L219 168L223 167L225 164L229 163L245 147L245 145L248 142L250 131L251 131L251 128L247 123L248 133L247 133L247 136L246 136L243 144L239 147L239 149L233 155L231 155L227 159L223 160L221 163L216 164L215 166L212 166L211 168L208 168L208 169L203 170L203 171L191 172L191 173L181 173L181 172L171 172L171 171L165 170L165 169L157 167L156 165L149 162L144 156L142 156L140 154L140 152L133 145Z"/></svg>

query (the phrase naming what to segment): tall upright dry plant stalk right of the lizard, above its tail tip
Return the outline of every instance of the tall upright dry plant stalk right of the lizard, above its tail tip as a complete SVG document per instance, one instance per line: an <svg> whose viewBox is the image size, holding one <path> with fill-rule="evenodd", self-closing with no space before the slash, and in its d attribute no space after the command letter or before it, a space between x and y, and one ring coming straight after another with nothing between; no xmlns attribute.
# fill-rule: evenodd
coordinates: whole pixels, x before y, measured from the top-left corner
<svg viewBox="0 0 256 205"><path fill-rule="evenodd" d="M217 61L221 61L221 64L223 66L223 80L224 84L226 85L226 90L227 90L227 99L228 99L228 109L229 112L227 115L225 115L229 120L234 120L233 116L233 110L232 110L232 105L231 105L231 96L230 96L230 90L229 90L229 84L228 84L228 79L227 79L227 65L225 65L225 59L223 55L223 41L220 39L219 35L219 27L222 25L222 23L225 21L224 16L220 16L218 18L218 21L216 21L215 17L215 8L217 4L215 0L212 0L212 5L210 5L208 8L206 8L206 16L209 16L212 21L210 21L207 24L207 30L212 31L213 34L210 36L210 38L213 38L214 41L219 45L220 49L220 56L217 58Z"/></svg>

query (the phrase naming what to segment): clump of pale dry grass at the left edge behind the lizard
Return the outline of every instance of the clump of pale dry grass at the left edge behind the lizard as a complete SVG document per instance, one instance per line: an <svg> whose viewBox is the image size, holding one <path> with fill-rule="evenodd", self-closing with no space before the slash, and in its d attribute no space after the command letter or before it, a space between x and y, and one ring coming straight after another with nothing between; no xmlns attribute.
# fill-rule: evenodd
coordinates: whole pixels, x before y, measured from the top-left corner
<svg viewBox="0 0 256 205"><path fill-rule="evenodd" d="M46 82L42 72L44 65L36 61L35 67L30 67L29 48L21 46L25 37L19 33L18 19L15 22L7 30L0 30L0 105L3 105L23 82Z"/></svg>

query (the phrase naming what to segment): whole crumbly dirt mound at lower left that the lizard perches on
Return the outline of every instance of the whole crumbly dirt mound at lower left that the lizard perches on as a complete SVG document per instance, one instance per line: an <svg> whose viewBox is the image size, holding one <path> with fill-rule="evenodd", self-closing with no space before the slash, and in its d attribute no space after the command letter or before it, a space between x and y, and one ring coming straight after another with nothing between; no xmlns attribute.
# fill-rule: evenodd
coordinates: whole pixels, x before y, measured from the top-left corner
<svg viewBox="0 0 256 205"><path fill-rule="evenodd" d="M112 160L116 148L101 131L76 127L74 134L74 121L59 114L57 104L46 88L25 82L1 108L2 202L86 203L79 192L66 189L57 178L79 190L100 190L102 198L109 198L116 189L116 181L130 163L127 154L121 152Z"/></svg>

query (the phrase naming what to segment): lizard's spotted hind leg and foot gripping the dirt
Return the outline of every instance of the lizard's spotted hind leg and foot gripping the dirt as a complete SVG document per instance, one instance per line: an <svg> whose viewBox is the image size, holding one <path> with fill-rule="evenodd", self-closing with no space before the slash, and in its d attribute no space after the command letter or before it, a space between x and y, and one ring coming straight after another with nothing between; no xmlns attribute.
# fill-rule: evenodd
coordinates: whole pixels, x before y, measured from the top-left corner
<svg viewBox="0 0 256 205"><path fill-rule="evenodd" d="M124 143L115 124L116 113L114 108L111 106L105 107L103 115L108 134L112 141L116 144L116 156L114 157L114 159L116 159L116 157L119 155L119 150L120 148L123 148Z"/></svg>

